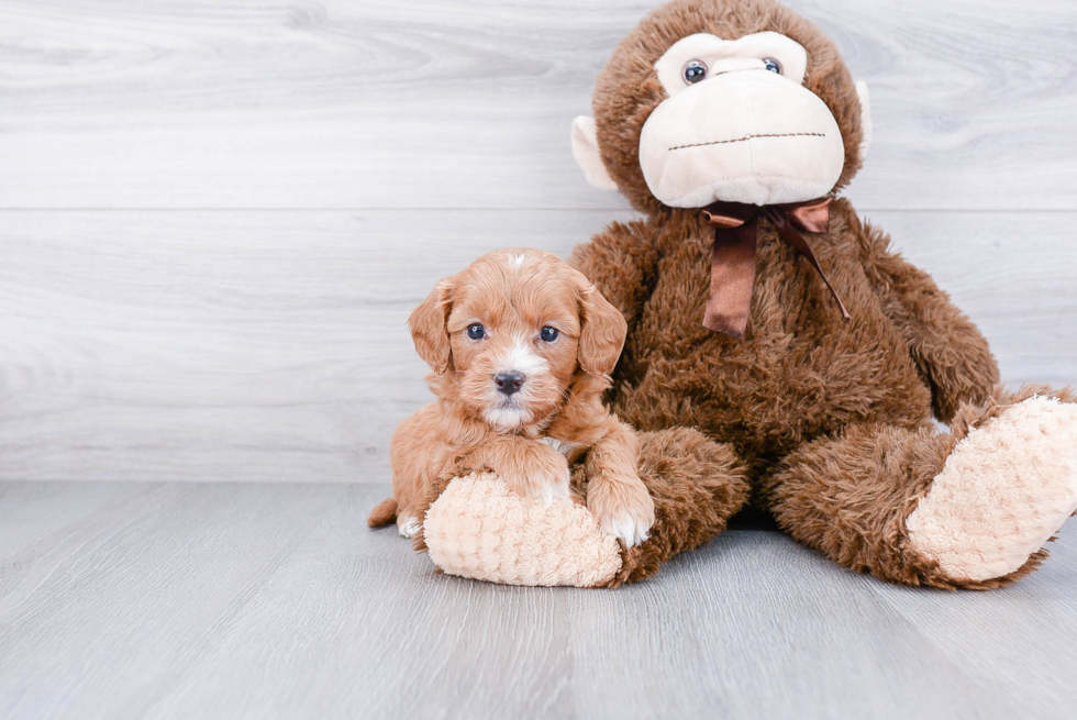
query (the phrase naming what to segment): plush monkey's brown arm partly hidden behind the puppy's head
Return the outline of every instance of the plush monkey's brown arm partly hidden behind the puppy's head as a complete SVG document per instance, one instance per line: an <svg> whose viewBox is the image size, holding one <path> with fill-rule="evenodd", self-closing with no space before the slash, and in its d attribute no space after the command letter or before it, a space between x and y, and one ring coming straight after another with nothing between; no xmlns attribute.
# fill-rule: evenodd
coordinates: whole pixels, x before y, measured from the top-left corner
<svg viewBox="0 0 1077 720"><path fill-rule="evenodd" d="M643 221L611 223L568 258L621 311L630 332L654 287L658 252L651 230Z"/></svg>

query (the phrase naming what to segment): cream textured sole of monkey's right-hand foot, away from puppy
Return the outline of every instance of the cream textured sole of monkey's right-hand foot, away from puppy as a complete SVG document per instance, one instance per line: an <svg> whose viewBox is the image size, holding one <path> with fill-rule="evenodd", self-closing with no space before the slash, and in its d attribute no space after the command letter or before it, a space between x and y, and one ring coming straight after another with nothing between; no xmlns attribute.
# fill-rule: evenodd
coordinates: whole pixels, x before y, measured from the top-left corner
<svg viewBox="0 0 1077 720"><path fill-rule="evenodd" d="M957 443L906 522L955 579L1020 568L1077 510L1077 405L1030 398Z"/></svg>

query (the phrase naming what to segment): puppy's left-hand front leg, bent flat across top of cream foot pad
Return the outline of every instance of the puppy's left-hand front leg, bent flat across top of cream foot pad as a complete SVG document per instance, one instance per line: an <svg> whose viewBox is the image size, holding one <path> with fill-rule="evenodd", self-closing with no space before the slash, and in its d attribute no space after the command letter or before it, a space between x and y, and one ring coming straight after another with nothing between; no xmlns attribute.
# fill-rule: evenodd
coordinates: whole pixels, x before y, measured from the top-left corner
<svg viewBox="0 0 1077 720"><path fill-rule="evenodd" d="M549 505L569 496L568 461L537 440L501 435L482 443L466 462L497 473L510 490L525 498L542 498Z"/></svg>

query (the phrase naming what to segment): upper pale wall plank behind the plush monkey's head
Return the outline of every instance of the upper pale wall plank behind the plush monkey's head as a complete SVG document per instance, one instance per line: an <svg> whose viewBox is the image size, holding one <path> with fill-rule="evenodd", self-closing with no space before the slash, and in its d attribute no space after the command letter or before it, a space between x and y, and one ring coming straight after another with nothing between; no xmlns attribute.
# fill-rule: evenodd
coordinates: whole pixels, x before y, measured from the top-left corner
<svg viewBox="0 0 1077 720"><path fill-rule="evenodd" d="M654 0L3 0L4 208L607 208L568 146ZM867 209L1077 210L1070 0L791 0L873 87Z"/></svg>

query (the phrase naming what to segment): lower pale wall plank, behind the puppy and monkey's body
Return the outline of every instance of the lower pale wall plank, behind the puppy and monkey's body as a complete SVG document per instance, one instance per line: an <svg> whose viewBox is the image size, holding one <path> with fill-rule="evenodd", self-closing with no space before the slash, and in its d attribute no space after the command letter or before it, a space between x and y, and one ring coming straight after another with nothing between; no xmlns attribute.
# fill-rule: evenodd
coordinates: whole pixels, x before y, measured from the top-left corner
<svg viewBox="0 0 1077 720"><path fill-rule="evenodd" d="M0 478L385 481L390 433L431 398L411 309L469 258L567 255L610 219L0 213ZM1077 213L870 219L1007 383L1077 383Z"/></svg>

